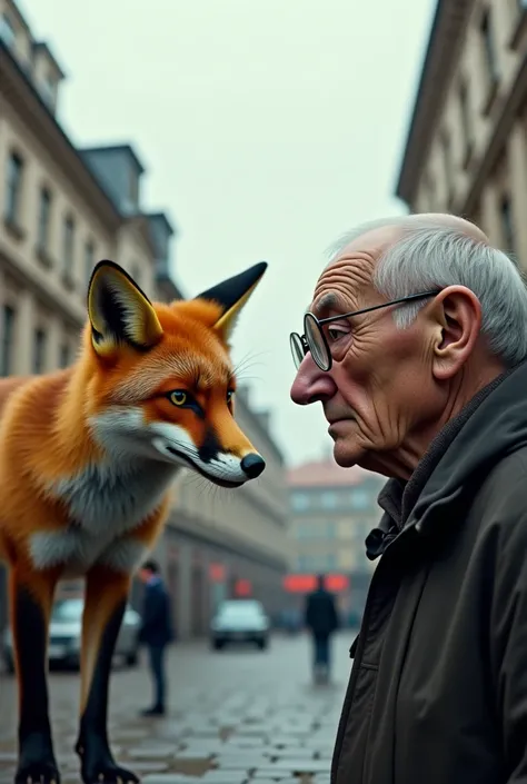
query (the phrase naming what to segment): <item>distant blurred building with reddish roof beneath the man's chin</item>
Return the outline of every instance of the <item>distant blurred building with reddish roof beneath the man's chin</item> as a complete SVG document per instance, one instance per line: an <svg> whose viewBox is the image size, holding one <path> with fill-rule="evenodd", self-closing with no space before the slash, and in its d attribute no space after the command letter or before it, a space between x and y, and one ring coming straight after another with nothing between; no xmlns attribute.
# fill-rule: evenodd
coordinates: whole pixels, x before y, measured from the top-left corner
<svg viewBox="0 0 527 784"><path fill-rule="evenodd" d="M334 580L340 611L361 612L374 570L365 539L378 524L377 496L385 478L358 466L341 468L332 458L307 463L288 473L291 542L291 576L288 585L300 594L312 576ZM310 575L311 580L304 579Z"/></svg>

